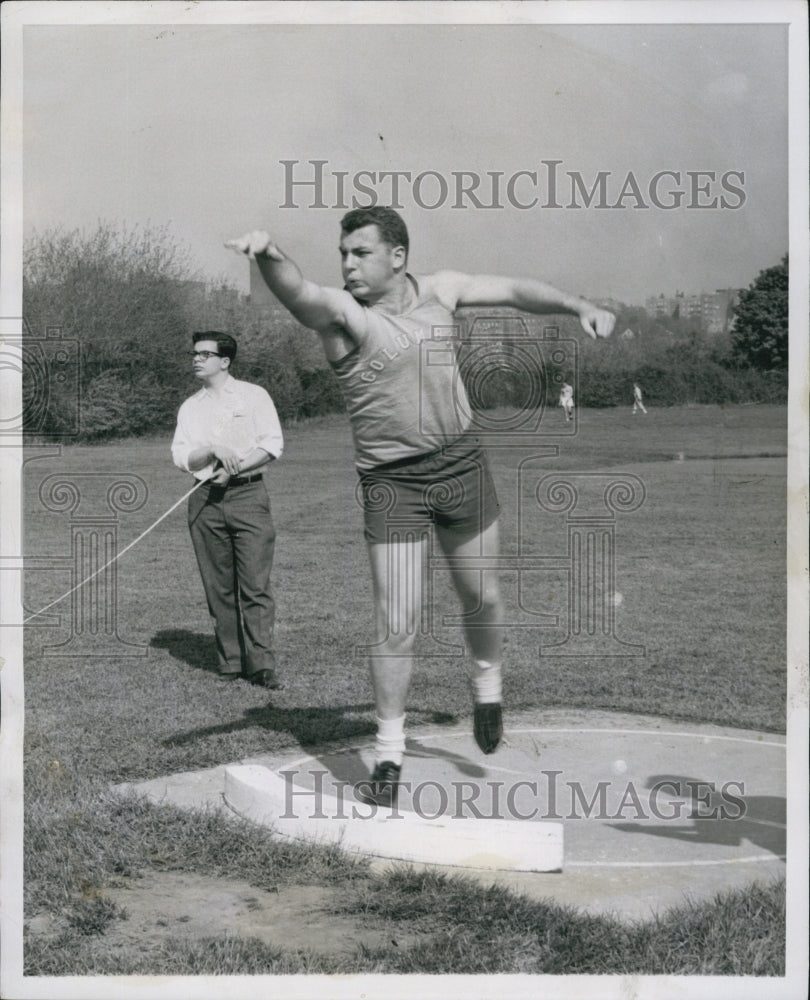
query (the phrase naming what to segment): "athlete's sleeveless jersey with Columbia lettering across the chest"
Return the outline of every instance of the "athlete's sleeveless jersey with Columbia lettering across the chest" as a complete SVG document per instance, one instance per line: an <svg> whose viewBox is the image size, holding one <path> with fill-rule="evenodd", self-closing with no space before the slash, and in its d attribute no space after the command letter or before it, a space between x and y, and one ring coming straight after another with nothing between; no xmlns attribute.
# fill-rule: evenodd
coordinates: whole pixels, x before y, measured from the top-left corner
<svg viewBox="0 0 810 1000"><path fill-rule="evenodd" d="M333 361L361 471L438 451L472 417L456 360L453 314L433 295L390 315L365 307L367 336Z"/></svg>

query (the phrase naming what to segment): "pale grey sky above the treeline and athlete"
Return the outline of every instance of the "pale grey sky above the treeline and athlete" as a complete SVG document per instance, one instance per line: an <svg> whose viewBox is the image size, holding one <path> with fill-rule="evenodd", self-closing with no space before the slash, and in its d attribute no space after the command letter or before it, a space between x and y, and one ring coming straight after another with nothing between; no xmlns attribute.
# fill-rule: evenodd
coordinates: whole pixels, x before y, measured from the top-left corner
<svg viewBox="0 0 810 1000"><path fill-rule="evenodd" d="M337 284L335 174L352 207L358 172L403 171L415 273L643 304L745 287L788 248L784 25L29 25L23 51L26 235L168 225L202 276L246 288L223 242L267 229ZM322 208L286 189L311 160ZM661 171L675 207L652 203ZM453 207L461 172L478 204ZM390 203L389 181L371 186Z"/></svg>

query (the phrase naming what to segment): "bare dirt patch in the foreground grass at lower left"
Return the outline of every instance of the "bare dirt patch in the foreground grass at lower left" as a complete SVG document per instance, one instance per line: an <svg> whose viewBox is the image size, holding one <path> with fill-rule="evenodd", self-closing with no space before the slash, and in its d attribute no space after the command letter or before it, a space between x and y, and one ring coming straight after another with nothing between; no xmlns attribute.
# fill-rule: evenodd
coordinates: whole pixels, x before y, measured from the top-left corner
<svg viewBox="0 0 810 1000"><path fill-rule="evenodd" d="M257 938L288 951L345 955L360 944L375 948L390 943L390 933L332 912L339 887L279 886L257 889L247 882L187 872L147 873L126 886L105 889L105 899L126 911L104 931L110 948L136 946L167 938ZM30 934L58 933L57 922L44 916L28 924ZM397 942L407 947L397 930Z"/></svg>

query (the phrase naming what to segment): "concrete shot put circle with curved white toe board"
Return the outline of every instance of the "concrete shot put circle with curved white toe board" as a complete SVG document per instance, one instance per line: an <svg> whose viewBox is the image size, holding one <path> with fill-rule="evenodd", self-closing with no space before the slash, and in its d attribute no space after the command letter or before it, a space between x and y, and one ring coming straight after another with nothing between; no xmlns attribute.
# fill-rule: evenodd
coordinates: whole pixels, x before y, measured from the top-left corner
<svg viewBox="0 0 810 1000"><path fill-rule="evenodd" d="M770 734L527 726L485 757L469 731L416 733L394 810L353 793L372 763L364 744L234 765L225 800L285 836L467 868L770 872L785 857L785 743Z"/></svg>

